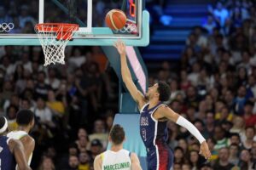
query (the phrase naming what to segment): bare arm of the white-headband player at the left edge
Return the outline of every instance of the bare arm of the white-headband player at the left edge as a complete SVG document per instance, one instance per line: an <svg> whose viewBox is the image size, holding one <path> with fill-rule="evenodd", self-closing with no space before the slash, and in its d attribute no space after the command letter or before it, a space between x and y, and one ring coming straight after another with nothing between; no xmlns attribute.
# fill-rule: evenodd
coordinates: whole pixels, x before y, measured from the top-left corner
<svg viewBox="0 0 256 170"><path fill-rule="evenodd" d="M18 165L19 170L31 170L28 167L25 154L24 154L24 147L23 144L19 140L9 139L9 149L15 156L15 160Z"/></svg>

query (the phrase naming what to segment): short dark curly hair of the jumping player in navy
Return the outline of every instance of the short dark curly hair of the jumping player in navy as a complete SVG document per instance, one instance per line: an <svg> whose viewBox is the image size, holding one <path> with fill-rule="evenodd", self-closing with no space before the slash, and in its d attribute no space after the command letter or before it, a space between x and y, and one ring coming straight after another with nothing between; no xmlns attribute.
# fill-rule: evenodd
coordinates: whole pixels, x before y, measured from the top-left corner
<svg viewBox="0 0 256 170"><path fill-rule="evenodd" d="M171 88L166 82L158 82L158 93L160 101L167 101L171 96Z"/></svg>

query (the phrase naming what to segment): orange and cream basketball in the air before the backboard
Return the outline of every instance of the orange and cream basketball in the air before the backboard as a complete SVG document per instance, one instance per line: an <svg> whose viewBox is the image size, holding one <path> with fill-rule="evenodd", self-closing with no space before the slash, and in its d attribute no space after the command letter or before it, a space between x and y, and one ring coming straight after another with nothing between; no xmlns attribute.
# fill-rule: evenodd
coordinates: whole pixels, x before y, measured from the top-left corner
<svg viewBox="0 0 256 170"><path fill-rule="evenodd" d="M112 9L106 15L105 22L112 30L119 30L125 26L126 15L119 9Z"/></svg>

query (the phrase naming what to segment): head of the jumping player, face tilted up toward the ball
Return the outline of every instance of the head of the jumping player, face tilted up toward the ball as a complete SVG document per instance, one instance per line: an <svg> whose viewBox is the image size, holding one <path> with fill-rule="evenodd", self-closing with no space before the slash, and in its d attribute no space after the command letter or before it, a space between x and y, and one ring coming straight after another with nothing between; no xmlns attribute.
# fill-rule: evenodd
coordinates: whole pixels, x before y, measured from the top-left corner
<svg viewBox="0 0 256 170"><path fill-rule="evenodd" d="M155 83L154 86L148 88L146 98L167 101L171 96L170 86L166 82Z"/></svg>

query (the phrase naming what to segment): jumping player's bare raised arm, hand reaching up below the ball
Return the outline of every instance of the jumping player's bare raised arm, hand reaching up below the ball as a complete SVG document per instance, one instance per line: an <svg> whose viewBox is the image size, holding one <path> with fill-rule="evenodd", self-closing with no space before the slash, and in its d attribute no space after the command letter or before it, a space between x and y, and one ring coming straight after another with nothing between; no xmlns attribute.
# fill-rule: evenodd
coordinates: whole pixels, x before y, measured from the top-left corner
<svg viewBox="0 0 256 170"><path fill-rule="evenodd" d="M137 89L134 82L131 78L131 72L127 65L126 60L126 51L125 51L125 42L117 41L114 43L114 47L117 48L119 54L120 54L120 60L121 60L121 74L122 79L125 82L126 88L128 88L132 98L137 102L139 109L145 105L145 98L144 95Z"/></svg>

